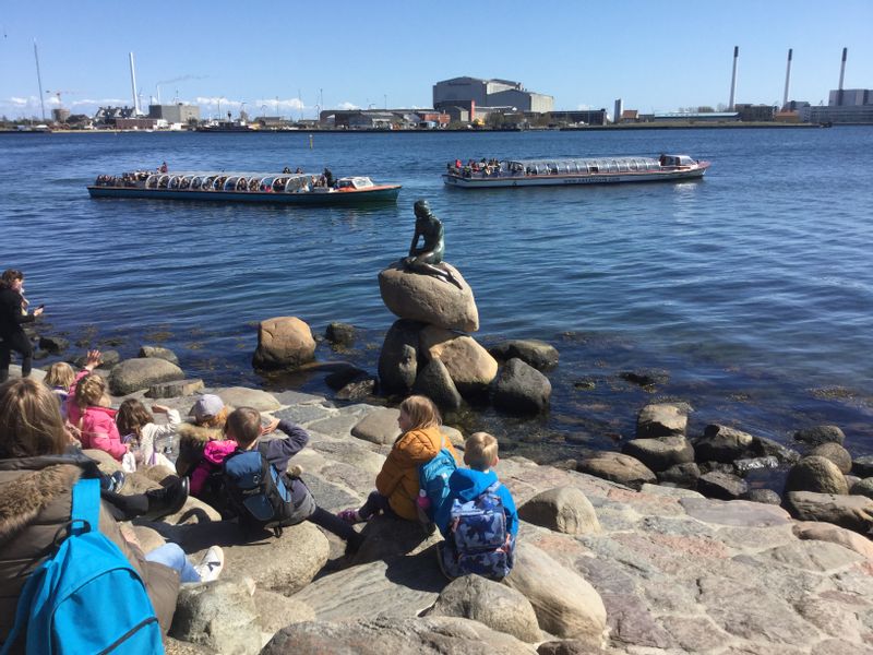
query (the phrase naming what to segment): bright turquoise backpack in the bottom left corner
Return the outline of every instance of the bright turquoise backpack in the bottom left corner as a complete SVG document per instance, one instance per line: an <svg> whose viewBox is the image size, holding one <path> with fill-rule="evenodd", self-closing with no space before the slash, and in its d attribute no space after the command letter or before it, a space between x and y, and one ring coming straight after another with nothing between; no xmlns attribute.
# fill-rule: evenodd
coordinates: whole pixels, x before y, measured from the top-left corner
<svg viewBox="0 0 873 655"><path fill-rule="evenodd" d="M152 602L140 574L97 529L99 480L73 486L68 536L37 567L19 596L15 623L0 648L11 652L20 634L26 653L164 653ZM64 529L61 528L61 529Z"/></svg>

